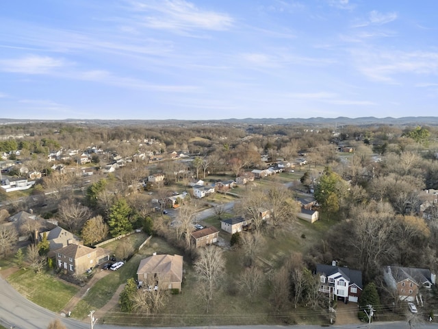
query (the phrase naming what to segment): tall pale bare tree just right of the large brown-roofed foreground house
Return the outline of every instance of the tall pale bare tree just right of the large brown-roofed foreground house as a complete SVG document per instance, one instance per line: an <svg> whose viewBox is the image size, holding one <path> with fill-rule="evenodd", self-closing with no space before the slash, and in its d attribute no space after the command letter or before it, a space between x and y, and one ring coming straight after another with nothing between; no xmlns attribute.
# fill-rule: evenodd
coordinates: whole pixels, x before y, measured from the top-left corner
<svg viewBox="0 0 438 329"><path fill-rule="evenodd" d="M216 245L203 247L194 262L194 269L199 280L198 293L205 301L205 311L209 312L209 305L215 291L220 287L220 281L224 275L225 260L222 249Z"/></svg>

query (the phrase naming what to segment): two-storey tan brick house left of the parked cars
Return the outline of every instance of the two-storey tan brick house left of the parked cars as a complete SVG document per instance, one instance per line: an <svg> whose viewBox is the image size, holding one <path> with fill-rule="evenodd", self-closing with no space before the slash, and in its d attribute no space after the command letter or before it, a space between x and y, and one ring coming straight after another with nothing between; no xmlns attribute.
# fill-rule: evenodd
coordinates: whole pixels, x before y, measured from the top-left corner
<svg viewBox="0 0 438 329"><path fill-rule="evenodd" d="M90 248L86 245L66 245L54 250L56 265L68 274L82 274L87 269L106 262L110 259L110 252L102 248Z"/></svg>

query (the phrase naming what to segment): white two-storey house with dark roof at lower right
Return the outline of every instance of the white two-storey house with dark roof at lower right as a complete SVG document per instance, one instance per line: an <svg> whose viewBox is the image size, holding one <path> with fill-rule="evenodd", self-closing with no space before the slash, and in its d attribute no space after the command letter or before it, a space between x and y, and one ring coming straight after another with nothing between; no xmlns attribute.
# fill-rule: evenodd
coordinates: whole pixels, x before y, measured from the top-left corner
<svg viewBox="0 0 438 329"><path fill-rule="evenodd" d="M355 302L363 290L362 272L348 267L332 265L316 265L316 273L320 276L320 291L328 293L332 300Z"/></svg>

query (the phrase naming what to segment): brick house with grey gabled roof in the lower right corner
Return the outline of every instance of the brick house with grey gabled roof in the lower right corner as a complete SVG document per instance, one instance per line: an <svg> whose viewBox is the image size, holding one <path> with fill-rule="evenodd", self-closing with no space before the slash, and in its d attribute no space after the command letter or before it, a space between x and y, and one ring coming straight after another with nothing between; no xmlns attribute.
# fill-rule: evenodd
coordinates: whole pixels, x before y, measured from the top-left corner
<svg viewBox="0 0 438 329"><path fill-rule="evenodd" d="M435 284L436 275L428 269L387 266L383 269L383 279L387 286L397 293L400 300L413 302L421 287L430 289Z"/></svg>

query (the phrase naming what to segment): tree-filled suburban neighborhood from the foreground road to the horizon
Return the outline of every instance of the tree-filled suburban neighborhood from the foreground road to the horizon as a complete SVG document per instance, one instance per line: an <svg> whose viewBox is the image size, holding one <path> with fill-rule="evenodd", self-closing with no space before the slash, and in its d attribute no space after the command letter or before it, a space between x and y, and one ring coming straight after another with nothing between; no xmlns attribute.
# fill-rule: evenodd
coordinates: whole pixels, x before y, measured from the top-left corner
<svg viewBox="0 0 438 329"><path fill-rule="evenodd" d="M58 315L435 321L436 127L377 125L373 138L360 125L218 125L204 137L196 126L11 129L0 141L0 274ZM68 146L72 132L83 148ZM187 137L166 140L177 134ZM215 317L229 303L231 322Z"/></svg>

